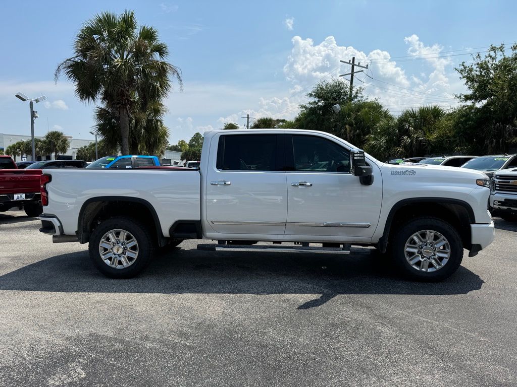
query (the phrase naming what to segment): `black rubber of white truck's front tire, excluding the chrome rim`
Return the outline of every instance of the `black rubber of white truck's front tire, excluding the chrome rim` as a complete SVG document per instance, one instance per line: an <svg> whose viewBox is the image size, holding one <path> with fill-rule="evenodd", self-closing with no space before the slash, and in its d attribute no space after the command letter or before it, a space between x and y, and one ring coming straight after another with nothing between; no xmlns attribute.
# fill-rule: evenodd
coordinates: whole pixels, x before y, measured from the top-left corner
<svg viewBox="0 0 517 387"><path fill-rule="evenodd" d="M407 240L410 236L422 230L437 231L445 236L449 242L451 248L449 261L439 270L431 272L419 271L406 260L405 246ZM458 232L446 221L437 218L410 220L402 225L400 230L394 232L395 235L391 244L391 255L407 278L417 281L442 281L458 270L463 259L463 244Z"/></svg>

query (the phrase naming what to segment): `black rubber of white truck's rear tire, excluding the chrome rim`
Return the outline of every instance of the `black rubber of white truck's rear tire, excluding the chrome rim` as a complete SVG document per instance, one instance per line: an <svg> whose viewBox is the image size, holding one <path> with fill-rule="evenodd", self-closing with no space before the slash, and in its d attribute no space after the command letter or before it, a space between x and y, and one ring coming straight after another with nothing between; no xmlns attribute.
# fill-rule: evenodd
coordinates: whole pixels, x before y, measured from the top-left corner
<svg viewBox="0 0 517 387"><path fill-rule="evenodd" d="M116 269L108 266L104 263L99 253L101 238L108 231L115 229L128 231L138 243L138 257L136 257L136 261L127 268ZM95 266L103 275L110 278L131 278L138 275L148 265L153 250L153 244L151 243L149 234L141 223L129 218L113 218L102 222L93 231L90 236L88 250L90 259L92 259Z"/></svg>

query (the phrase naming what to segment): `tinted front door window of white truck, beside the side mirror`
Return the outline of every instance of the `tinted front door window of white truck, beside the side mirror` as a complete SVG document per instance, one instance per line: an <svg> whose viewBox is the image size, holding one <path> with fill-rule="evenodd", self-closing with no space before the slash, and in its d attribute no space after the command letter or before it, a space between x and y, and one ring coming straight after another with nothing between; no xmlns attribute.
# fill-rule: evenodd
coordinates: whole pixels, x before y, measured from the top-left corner
<svg viewBox="0 0 517 387"><path fill-rule="evenodd" d="M293 136L295 171L350 172L350 153L316 136Z"/></svg>

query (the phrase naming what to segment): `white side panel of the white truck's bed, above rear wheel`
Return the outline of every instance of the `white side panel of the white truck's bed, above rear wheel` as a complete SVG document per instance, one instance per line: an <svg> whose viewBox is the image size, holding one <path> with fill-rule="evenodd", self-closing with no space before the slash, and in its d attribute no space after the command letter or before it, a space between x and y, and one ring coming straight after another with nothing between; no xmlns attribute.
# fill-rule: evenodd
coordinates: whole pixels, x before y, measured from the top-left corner
<svg viewBox="0 0 517 387"><path fill-rule="evenodd" d="M47 186L49 205L68 235L77 231L83 206L110 197L150 205L165 237L178 220L201 220L201 175L195 169L49 169L44 173L52 179Z"/></svg>

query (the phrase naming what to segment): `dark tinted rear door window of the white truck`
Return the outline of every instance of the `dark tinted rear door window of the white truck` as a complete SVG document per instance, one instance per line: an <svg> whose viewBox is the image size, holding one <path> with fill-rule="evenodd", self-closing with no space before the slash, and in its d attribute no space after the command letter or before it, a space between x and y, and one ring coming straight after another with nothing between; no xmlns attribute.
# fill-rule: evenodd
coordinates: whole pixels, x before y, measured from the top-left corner
<svg viewBox="0 0 517 387"><path fill-rule="evenodd" d="M217 168L221 170L277 170L277 136L274 134L221 136L217 152Z"/></svg>

